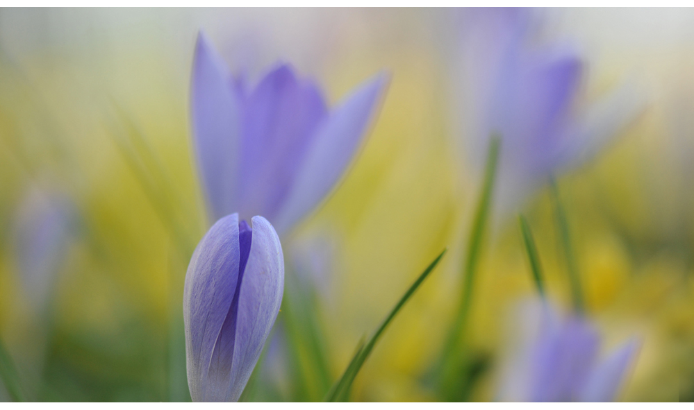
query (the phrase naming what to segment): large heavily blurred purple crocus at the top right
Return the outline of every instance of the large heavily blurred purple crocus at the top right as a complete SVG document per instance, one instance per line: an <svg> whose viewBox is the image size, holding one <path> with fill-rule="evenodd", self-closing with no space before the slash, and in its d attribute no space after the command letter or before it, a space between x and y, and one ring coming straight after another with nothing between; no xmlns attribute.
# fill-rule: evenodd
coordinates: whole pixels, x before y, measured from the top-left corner
<svg viewBox="0 0 694 410"><path fill-rule="evenodd" d="M586 65L575 48L535 40L540 23L527 8L461 13L460 58L454 64L456 118L476 169L490 135L502 139L497 207L513 210L548 176L597 153L645 108L632 85L621 85L588 108L579 106Z"/></svg>

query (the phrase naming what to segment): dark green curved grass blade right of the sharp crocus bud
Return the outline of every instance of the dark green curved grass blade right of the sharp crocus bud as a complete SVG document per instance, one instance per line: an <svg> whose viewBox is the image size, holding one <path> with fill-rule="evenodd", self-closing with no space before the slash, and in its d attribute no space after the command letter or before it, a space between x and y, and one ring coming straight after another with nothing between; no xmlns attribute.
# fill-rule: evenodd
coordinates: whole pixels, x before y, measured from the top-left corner
<svg viewBox="0 0 694 410"><path fill-rule="evenodd" d="M413 295L413 293L415 293L417 288L420 287L420 284L422 284L422 282L424 282L424 279L426 279L427 276L429 276L429 273L433 271L433 268L436 267L436 265L445 253L446 249L444 249L443 252L441 252L438 255L438 257L436 257L436 259L433 259L433 262L431 262L431 264L429 264L429 266L427 266L427 268L424 269L424 272L422 272L420 277L418 277L417 280L415 280L410 289L407 289L405 294L402 296L402 298L400 298L395 307L393 307L393 310L390 311L390 314L386 316L386 319L381 323L376 332L372 334L372 336L365 344L361 345L361 347L357 347L356 353L354 354L352 361L350 361L349 366L347 366L347 370L345 370L345 373L342 374L342 377L340 377L338 382L336 382L336 384L333 384L333 387L326 395L324 401L347 401L347 399L349 398L349 390L350 388L352 388L352 382L354 382L357 373L359 373L359 369L361 369L361 366L364 364L366 359L371 354L371 351L373 350L374 345L376 345L376 342L378 341L379 337L381 336L381 334L383 334L383 331L386 330L386 327L388 326L390 321L393 321L393 318L395 318L397 312L403 307L403 305L405 305L405 302L407 302L407 300Z"/></svg>

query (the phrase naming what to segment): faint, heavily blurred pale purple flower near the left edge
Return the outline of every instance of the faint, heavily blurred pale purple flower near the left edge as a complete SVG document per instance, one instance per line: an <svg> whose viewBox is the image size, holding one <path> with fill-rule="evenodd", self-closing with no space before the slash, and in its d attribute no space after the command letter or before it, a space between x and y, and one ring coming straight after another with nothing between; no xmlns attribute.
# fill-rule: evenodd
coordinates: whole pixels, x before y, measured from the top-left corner
<svg viewBox="0 0 694 410"><path fill-rule="evenodd" d="M46 314L73 224L74 207L63 194L32 188L19 205L17 264L28 305L37 314Z"/></svg>

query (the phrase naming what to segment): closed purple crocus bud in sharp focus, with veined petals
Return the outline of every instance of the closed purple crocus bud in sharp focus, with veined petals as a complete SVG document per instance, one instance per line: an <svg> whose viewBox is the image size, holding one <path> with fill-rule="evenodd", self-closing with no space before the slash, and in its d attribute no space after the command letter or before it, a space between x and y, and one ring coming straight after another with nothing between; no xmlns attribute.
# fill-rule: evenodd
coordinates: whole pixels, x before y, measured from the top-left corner
<svg viewBox="0 0 694 410"><path fill-rule="evenodd" d="M284 289L279 237L267 219L213 225L190 259L183 289L185 358L196 402L238 401L270 334Z"/></svg>

